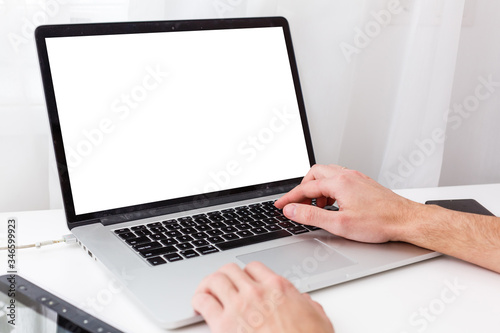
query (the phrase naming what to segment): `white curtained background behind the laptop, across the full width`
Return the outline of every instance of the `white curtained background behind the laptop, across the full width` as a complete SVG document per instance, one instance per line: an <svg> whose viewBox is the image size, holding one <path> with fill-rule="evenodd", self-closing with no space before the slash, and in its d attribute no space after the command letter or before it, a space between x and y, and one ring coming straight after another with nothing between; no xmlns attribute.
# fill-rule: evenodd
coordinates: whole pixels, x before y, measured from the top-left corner
<svg viewBox="0 0 500 333"><path fill-rule="evenodd" d="M0 0L0 211L61 207L38 24L285 16L318 163L405 188L500 182L498 13L495 0Z"/></svg>

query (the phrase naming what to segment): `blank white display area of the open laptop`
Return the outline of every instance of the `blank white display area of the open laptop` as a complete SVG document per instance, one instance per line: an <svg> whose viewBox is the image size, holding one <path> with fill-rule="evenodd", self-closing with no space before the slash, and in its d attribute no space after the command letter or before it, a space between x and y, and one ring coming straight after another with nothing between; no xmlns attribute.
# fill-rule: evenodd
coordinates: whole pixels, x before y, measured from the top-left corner
<svg viewBox="0 0 500 333"><path fill-rule="evenodd" d="M281 27L47 38L76 214L302 177Z"/></svg>

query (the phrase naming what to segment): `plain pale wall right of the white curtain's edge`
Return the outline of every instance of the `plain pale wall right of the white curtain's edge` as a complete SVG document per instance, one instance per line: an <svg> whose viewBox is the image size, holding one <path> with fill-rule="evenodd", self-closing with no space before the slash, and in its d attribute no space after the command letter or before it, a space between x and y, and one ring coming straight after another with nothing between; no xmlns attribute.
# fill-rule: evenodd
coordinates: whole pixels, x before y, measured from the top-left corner
<svg viewBox="0 0 500 333"><path fill-rule="evenodd" d="M448 131L440 185L500 181L500 1L470 1L468 10L450 103L465 103L464 116ZM491 95L476 105L475 90L489 77Z"/></svg>

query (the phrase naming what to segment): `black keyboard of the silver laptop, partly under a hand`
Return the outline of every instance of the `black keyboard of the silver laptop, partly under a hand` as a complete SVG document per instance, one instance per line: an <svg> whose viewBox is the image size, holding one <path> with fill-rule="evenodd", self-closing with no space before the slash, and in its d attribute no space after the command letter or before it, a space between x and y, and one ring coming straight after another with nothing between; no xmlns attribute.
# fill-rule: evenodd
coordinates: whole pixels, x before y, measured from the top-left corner
<svg viewBox="0 0 500 333"><path fill-rule="evenodd" d="M113 232L157 266L317 229L287 219L274 201L265 201Z"/></svg>

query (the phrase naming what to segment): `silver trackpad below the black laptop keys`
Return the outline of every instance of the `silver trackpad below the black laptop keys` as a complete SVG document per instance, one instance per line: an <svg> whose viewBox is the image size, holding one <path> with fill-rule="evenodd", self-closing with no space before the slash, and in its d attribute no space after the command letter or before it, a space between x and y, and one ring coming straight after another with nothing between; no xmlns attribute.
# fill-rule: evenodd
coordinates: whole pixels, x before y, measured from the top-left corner
<svg viewBox="0 0 500 333"><path fill-rule="evenodd" d="M297 286L300 280L356 264L316 239L237 256L248 264L260 261Z"/></svg>

